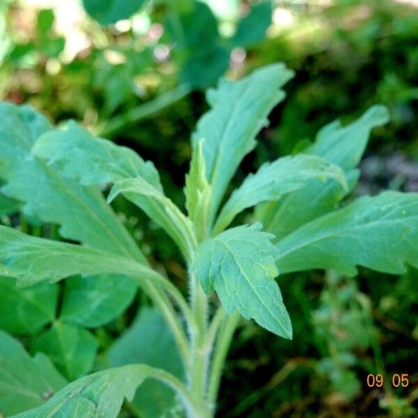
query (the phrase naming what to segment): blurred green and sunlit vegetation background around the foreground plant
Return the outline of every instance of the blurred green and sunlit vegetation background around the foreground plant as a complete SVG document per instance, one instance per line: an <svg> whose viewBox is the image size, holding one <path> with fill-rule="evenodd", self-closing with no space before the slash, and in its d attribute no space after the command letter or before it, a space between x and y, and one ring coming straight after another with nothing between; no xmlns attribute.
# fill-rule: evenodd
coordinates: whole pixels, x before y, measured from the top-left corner
<svg viewBox="0 0 418 418"><path fill-rule="evenodd" d="M417 3L156 1L100 26L76 0L3 0L0 95L32 104L56 122L75 118L131 146L155 162L167 194L181 204L188 132L207 107L205 89L224 73L240 77L285 61L296 72L288 98L274 109L236 183L263 160L305 146L326 123L351 121L380 102L391 122L373 131L355 193L417 191ZM104 24L119 16L87 9ZM0 200L3 224L58 238L54 226L25 219L18 205L3 206L12 207ZM130 203L116 200L116 208L130 214L123 220L147 256L184 288L185 268L166 235ZM279 284L294 339L277 339L253 323L240 328L219 417L417 416L416 270L394 277L363 269L355 279L318 271L284 275ZM138 296L121 318L96 330L101 349L145 303ZM96 363L100 368L100 357ZM369 373L384 374L388 384L366 387ZM393 373L410 373L409 387L393 388Z"/></svg>

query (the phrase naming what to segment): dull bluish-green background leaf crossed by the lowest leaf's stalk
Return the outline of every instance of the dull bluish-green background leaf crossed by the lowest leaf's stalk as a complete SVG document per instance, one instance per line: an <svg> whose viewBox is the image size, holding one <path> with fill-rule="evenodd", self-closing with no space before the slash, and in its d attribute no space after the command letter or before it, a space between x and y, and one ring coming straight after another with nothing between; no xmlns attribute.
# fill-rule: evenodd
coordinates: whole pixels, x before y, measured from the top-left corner
<svg viewBox="0 0 418 418"><path fill-rule="evenodd" d="M173 335L155 307L142 308L129 330L109 350L111 366L147 364L184 378L180 354ZM179 408L175 393L161 382L144 382L133 400L136 414L146 418L162 417L172 408Z"/></svg>

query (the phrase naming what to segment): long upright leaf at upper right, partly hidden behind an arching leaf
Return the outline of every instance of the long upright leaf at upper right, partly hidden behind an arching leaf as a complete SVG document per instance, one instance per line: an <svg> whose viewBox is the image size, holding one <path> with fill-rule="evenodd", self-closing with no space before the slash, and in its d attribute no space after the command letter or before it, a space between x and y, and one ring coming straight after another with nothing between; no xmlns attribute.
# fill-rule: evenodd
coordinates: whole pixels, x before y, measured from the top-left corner
<svg viewBox="0 0 418 418"><path fill-rule="evenodd" d="M387 109L376 105L366 111L357 121L341 126L334 121L318 132L315 144L305 150L338 165L346 173L350 189L357 183L355 169L366 148L373 127L388 120ZM276 240L284 238L299 226L336 208L346 192L334 180L324 185L311 180L304 189L297 190L278 202L264 203L256 209L256 219L265 231L274 233Z"/></svg>

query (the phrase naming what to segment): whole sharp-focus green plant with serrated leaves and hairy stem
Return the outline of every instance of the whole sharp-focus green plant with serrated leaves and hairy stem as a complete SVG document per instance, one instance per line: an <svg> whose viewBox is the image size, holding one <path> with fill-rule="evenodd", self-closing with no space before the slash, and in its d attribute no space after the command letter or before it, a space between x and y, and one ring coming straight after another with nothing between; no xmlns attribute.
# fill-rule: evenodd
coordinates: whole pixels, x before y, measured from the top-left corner
<svg viewBox="0 0 418 418"><path fill-rule="evenodd" d="M77 274L90 280L107 274L107 280L117 283L123 275L153 300L171 331L171 337L153 342L152 327L146 323L160 323L161 317L153 309L143 310L109 358L119 356L114 363L123 364L120 353L129 351L139 335L146 336L142 359L147 342L153 343L147 350L158 358L110 369L98 364L101 371L68 385L48 357L30 357L1 332L1 410L8 415L22 412L20 417L116 417L123 399L132 401L137 387L153 379L176 393L172 413L183 414L180 401L189 417L212 417L240 316L292 337L274 280L279 272L324 268L353 275L356 265L362 265L396 274L405 271L405 264L418 267L417 194L383 192L340 207L355 187L356 166L369 132L387 121L381 106L351 125L330 123L304 153L263 164L222 204L235 170L256 146L256 134L284 99L281 87L292 76L283 64L274 64L238 82L222 79L217 89L208 91L211 109L192 135L187 216L164 195L153 164L133 150L95 138L76 123L57 130L29 107L1 104L3 194L24 202L23 210L33 222L59 224L61 238L72 241L0 226L1 276L16 278L18 286L40 286ZM163 272L151 268L104 201L100 186L109 183L108 203L123 196L176 242L189 272L188 299ZM256 222L229 228L240 212L253 206L263 226ZM71 343L71 336L67 338ZM163 366L164 357L173 355L170 338L183 365L180 371ZM44 344L52 346L51 340ZM166 351L159 351L160 342ZM82 348L81 355L86 351ZM154 366L156 362L161 366ZM33 407L38 408L24 412Z"/></svg>

